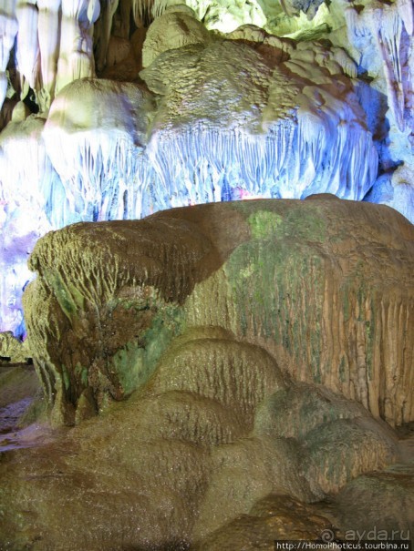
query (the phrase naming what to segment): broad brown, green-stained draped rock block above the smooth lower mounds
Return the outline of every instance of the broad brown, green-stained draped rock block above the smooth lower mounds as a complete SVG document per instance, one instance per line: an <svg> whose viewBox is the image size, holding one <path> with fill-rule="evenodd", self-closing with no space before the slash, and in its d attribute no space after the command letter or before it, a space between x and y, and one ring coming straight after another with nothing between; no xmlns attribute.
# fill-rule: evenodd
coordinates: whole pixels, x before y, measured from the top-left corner
<svg viewBox="0 0 414 551"><path fill-rule="evenodd" d="M263 346L297 380L409 422L412 239L392 211L330 196L51 232L29 260L38 278L25 300L48 400L73 422L85 393L97 408L119 400L149 380L172 338L218 327ZM185 384L185 365L199 362L185 360L189 346Z"/></svg>

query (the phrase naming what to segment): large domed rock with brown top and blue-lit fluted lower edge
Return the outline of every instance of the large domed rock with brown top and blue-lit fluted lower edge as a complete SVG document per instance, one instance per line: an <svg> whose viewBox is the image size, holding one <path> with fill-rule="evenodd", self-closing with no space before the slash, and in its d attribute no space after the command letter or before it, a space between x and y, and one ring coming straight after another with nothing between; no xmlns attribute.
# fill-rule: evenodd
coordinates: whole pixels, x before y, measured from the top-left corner
<svg viewBox="0 0 414 551"><path fill-rule="evenodd" d="M378 157L351 83L269 48L274 58L236 40L187 46L140 73L160 96L147 151L168 197L366 195Z"/></svg>

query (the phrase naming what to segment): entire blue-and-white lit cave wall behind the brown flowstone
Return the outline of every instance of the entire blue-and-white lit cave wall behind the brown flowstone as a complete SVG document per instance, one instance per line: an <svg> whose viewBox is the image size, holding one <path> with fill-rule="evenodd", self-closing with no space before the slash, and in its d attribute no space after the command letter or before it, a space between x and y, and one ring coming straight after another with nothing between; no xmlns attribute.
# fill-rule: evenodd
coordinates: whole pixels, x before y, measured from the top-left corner
<svg viewBox="0 0 414 551"><path fill-rule="evenodd" d="M327 4L7 0L0 331L75 221L322 192L414 219L412 5Z"/></svg>

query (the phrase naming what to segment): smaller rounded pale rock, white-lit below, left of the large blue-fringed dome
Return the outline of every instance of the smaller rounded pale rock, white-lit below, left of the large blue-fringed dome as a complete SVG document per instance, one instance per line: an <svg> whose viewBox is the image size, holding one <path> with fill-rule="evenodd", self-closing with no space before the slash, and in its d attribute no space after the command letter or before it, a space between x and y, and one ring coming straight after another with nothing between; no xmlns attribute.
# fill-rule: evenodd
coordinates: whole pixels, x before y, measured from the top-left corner
<svg viewBox="0 0 414 551"><path fill-rule="evenodd" d="M43 139L77 219L140 218L152 109L142 87L106 79L77 80L54 101Z"/></svg>

